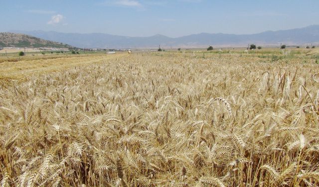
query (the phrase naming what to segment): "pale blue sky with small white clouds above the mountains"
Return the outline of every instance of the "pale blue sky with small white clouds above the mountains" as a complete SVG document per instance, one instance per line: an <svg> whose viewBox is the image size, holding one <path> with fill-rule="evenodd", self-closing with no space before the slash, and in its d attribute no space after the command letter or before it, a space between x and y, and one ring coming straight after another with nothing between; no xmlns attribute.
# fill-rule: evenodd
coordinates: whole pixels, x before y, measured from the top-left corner
<svg viewBox="0 0 319 187"><path fill-rule="evenodd" d="M0 31L249 34L319 24L318 8L319 0L1 0Z"/></svg>

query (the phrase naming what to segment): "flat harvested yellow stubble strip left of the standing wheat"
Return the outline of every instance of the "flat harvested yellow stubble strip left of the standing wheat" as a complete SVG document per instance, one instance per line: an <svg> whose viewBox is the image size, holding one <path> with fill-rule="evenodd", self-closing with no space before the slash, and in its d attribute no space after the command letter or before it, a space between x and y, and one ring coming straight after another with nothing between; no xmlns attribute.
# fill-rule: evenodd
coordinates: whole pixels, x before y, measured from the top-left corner
<svg viewBox="0 0 319 187"><path fill-rule="evenodd" d="M55 59L21 60L0 63L0 80L23 80L26 76L58 71L78 65L102 63L105 60L128 56L126 53L99 56L74 56Z"/></svg>

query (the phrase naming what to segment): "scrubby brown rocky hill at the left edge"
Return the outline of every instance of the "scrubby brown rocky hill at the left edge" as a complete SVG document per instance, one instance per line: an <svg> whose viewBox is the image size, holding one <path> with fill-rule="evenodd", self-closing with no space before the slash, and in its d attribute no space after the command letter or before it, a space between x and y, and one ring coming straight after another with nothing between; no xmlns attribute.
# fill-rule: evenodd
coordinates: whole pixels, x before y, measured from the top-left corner
<svg viewBox="0 0 319 187"><path fill-rule="evenodd" d="M55 47L70 48L71 45L40 39L34 36L0 32L0 47Z"/></svg>

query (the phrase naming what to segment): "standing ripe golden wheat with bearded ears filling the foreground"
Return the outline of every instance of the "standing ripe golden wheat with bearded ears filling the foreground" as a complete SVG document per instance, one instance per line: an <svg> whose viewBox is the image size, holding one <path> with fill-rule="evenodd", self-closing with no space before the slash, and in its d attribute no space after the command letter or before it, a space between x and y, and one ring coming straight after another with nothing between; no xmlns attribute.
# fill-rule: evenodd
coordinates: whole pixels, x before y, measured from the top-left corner
<svg viewBox="0 0 319 187"><path fill-rule="evenodd" d="M313 59L99 61L0 80L1 187L319 186Z"/></svg>

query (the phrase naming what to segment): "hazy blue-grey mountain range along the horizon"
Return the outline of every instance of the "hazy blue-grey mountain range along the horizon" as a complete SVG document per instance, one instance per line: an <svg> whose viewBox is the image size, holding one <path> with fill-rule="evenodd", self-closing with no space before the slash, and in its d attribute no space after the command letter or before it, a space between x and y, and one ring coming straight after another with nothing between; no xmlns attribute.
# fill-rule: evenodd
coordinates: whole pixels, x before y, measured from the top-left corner
<svg viewBox="0 0 319 187"><path fill-rule="evenodd" d="M319 25L256 34L199 33L176 38L164 35L128 37L104 33L61 33L55 31L11 31L29 34L46 40L67 43L84 48L154 48L163 47L207 47L256 45L310 45L319 44Z"/></svg>

